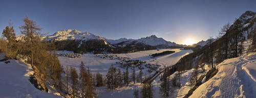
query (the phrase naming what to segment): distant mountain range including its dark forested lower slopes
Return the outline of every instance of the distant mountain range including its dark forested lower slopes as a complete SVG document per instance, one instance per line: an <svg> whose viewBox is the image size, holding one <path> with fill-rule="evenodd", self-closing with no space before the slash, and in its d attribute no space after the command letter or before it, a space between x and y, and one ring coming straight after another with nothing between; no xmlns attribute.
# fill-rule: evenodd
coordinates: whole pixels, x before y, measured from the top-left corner
<svg viewBox="0 0 256 98"><path fill-rule="evenodd" d="M43 40L51 41L57 50L69 50L79 52L113 52L129 53L158 48L183 48L174 42L165 41L155 35L141 39L110 40L101 36L95 36L89 32L81 32L76 29L57 31L53 35L42 37Z"/></svg>

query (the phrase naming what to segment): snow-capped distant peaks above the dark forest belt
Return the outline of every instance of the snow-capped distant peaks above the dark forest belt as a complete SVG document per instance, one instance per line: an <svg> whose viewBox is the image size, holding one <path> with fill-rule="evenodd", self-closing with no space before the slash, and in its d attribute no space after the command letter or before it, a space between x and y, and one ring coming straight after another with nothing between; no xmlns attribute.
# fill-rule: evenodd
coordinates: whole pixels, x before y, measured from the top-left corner
<svg viewBox="0 0 256 98"><path fill-rule="evenodd" d="M176 44L174 42L165 41L163 38L157 38L155 35L150 37L141 38L141 39L126 39L121 38L118 40L111 40L106 39L101 36L93 35L89 32L82 32L76 29L68 29L68 30L61 30L55 32L53 35L42 37L42 39L47 41L63 41L63 40L81 40L81 41L89 41L89 40L104 40L106 43L113 45L113 46L121 46L125 47L127 45L134 45L136 44L145 44L151 46L161 46L161 47L183 47L183 45Z"/></svg>

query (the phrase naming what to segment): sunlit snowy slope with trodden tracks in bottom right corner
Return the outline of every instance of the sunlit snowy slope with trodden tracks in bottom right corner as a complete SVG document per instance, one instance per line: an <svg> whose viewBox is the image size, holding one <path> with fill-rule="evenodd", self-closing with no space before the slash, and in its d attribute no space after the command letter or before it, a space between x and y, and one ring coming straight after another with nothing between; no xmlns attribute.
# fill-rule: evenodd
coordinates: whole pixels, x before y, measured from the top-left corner
<svg viewBox="0 0 256 98"><path fill-rule="evenodd" d="M256 55L227 59L190 97L255 97Z"/></svg>

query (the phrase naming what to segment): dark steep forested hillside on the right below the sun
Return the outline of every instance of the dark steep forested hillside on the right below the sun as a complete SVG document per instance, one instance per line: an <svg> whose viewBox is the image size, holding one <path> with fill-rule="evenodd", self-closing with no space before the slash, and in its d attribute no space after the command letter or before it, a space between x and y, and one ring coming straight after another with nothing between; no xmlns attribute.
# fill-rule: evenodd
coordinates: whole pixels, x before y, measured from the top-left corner
<svg viewBox="0 0 256 98"><path fill-rule="evenodd" d="M213 68L225 59L242 56L245 52L255 52L255 25L255 12L246 11L239 18L235 19L232 24L224 24L216 41L208 41L201 49L180 59L175 66L178 68L178 71L199 67L204 68L205 64ZM245 41L252 41L248 50L245 50L243 47Z"/></svg>

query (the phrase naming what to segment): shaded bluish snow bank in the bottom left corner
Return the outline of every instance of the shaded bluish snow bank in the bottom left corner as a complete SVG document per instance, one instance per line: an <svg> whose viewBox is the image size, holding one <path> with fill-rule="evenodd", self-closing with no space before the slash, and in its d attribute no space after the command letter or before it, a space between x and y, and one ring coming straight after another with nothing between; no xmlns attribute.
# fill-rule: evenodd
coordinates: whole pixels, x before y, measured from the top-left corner
<svg viewBox="0 0 256 98"><path fill-rule="evenodd" d="M0 59L3 59L0 54ZM0 97L61 97L38 90L29 82L31 67L21 60L0 62Z"/></svg>

